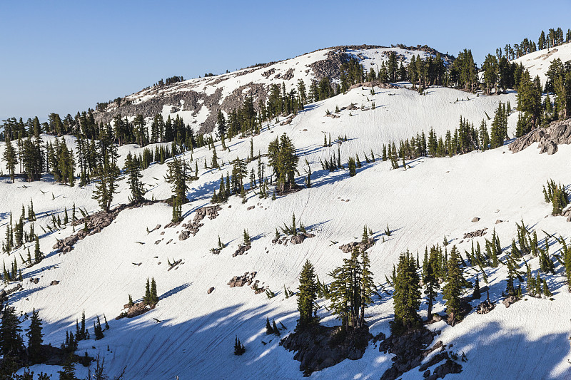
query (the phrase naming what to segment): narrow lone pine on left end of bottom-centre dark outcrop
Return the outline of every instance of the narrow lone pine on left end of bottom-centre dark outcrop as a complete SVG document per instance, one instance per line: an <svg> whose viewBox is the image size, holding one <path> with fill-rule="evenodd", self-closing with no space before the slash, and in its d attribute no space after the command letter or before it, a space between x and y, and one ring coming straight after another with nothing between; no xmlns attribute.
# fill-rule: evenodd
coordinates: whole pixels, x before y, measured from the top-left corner
<svg viewBox="0 0 571 380"><path fill-rule="evenodd" d="M305 260L305 264L299 275L299 319L296 329L305 329L318 324L317 316L314 314L316 310L315 299L317 299L315 272L309 260Z"/></svg>

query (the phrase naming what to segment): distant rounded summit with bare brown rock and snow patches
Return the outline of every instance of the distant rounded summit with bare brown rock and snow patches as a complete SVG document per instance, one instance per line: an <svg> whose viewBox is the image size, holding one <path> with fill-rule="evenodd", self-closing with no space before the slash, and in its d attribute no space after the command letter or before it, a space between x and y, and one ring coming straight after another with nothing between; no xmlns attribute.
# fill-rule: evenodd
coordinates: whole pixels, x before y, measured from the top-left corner
<svg viewBox="0 0 571 380"><path fill-rule="evenodd" d="M399 62L408 65L410 58L427 58L437 52L431 48L384 48L381 46L338 46L313 51L285 61L266 63L205 78L193 78L166 86L153 86L123 99L123 105L117 107L111 103L106 111L94 113L96 120L111 120L121 113L123 117L140 113L153 117L162 113L183 118L196 130L210 131L216 123L218 110L228 113L239 108L245 96L252 96L254 104L265 101L269 86L285 84L286 91L297 86L298 81L309 89L311 81L324 76L333 82L338 81L340 65L355 58L368 71L378 71L383 62L388 61L391 52L395 52ZM448 59L448 56L443 56ZM128 103L131 104L128 104Z"/></svg>

